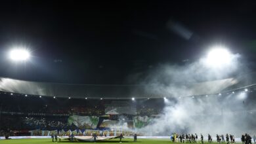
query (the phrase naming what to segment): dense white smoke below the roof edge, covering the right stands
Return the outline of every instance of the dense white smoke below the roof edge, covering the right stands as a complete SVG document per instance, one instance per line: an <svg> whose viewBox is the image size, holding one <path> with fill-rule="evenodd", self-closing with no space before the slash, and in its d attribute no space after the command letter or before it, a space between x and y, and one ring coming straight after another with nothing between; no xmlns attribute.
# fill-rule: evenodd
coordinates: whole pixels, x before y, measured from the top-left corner
<svg viewBox="0 0 256 144"><path fill-rule="evenodd" d="M239 94L240 95L240 94ZM238 98L240 98L238 95ZM225 99L221 96L181 98L177 102L165 103L160 118L154 119L142 131L152 130L152 135L170 135L173 132L198 134L242 134L245 118L234 113L234 105L244 110L236 94Z"/></svg>

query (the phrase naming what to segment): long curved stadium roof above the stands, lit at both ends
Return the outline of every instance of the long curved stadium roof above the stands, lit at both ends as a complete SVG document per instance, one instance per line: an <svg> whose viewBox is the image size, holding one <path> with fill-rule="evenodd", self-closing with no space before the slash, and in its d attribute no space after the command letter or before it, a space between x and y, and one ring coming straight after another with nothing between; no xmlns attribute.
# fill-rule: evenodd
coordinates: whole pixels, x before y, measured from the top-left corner
<svg viewBox="0 0 256 144"><path fill-rule="evenodd" d="M189 84L186 93L173 92L170 86L163 88L150 85L95 85L95 84L62 84L50 82L22 81L10 78L0 78L0 90L18 94L37 96L56 96L72 98L104 98L104 99L130 99L130 98L163 98L179 96L198 96L203 94L219 94L228 88L238 86L238 79L222 79L217 81ZM175 88L177 89L177 88ZM168 90L168 91L167 91ZM179 97L176 96L176 97Z"/></svg>

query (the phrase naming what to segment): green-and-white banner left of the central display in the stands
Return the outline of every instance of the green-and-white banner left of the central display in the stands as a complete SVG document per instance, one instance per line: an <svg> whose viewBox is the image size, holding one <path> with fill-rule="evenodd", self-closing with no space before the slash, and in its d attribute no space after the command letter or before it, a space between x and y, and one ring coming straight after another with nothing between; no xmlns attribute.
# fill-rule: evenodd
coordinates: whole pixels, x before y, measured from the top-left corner
<svg viewBox="0 0 256 144"><path fill-rule="evenodd" d="M78 128L95 129L98 124L98 117L73 115L68 118L68 124L74 124Z"/></svg>

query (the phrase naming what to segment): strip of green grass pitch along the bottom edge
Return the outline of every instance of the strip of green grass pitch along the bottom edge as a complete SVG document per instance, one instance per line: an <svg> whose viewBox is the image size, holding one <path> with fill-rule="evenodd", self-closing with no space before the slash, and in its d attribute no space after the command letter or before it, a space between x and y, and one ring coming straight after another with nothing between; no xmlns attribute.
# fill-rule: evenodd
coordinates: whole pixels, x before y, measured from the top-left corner
<svg viewBox="0 0 256 144"><path fill-rule="evenodd" d="M52 142L52 139L9 139L9 140L0 140L0 144L71 144L71 143L94 143L91 141L68 141L68 140L62 140L58 142ZM111 139L107 141L97 141L96 143L102 143L102 144L113 144L113 143L119 143L119 139ZM138 139L137 142L133 142L133 139L123 139L122 143L127 144L171 144L170 139ZM205 142L207 143L207 142ZM188 143L187 143L188 144ZM192 143L193 144L193 143ZM196 143L194 143L196 144ZM218 143L211 143L211 144L218 144Z"/></svg>

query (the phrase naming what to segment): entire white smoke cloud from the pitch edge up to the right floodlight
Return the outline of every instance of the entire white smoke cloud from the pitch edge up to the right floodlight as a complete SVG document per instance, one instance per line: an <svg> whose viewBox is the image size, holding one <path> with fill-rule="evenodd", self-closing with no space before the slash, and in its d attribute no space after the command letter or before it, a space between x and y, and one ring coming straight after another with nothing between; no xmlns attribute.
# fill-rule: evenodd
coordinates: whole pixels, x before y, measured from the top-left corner
<svg viewBox="0 0 256 144"><path fill-rule="evenodd" d="M223 67L211 67L202 58L186 65L162 64L150 71L141 82L152 85L146 92L172 100L166 99L161 116L141 130L152 132L152 135L170 135L173 132L242 134L249 128L249 122L234 111L245 110L242 99L247 93L226 97L209 95L218 94L238 82L232 75L238 75L244 67L239 62L239 54L231 54L230 58L231 63ZM209 96L195 96L202 94Z"/></svg>

